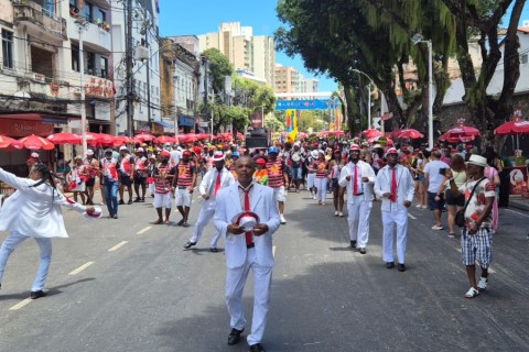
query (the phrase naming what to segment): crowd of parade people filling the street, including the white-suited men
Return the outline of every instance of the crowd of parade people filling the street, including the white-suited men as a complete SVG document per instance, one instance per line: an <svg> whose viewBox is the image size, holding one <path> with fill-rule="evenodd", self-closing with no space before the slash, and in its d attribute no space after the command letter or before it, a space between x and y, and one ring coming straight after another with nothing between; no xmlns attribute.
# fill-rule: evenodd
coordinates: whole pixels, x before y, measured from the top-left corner
<svg viewBox="0 0 529 352"><path fill-rule="evenodd" d="M370 145L358 139L276 142L252 150L238 144L165 144L159 147L143 144L133 150L122 145L114 150L88 150L86 155L74 158L71 169L61 169L66 174L65 185L73 193L74 201L57 196L54 205L71 204L79 211L93 212L99 183L109 219L118 219L119 206L152 198L154 224L171 224L174 201L182 217L176 226L187 228L193 195L197 191L203 202L184 249L197 245L205 227L215 218L209 250L216 253L217 243L224 238L228 267L226 297L231 317L228 344L237 343L245 330L241 293L251 268L256 295L248 342L251 351L264 351L260 341L273 266L271 234L280 224L287 224L289 193L306 190L309 201L317 201L322 208L332 199L334 217L338 219L344 217L346 206L348 245L360 254L367 253L374 202L380 202L382 261L388 270L397 266L399 272L407 270L408 211L413 202L417 209L429 209L433 218L431 229L439 231L446 227L449 238L456 237L458 212L463 210L460 237L471 285L465 297L473 298L488 285L492 237L498 231L499 186L506 163L492 147L478 155L472 145L452 147L440 143L427 150L425 145ZM33 170L32 182L13 178L1 169L0 179L12 184L22 195L30 195L28 189L45 179L43 183L51 187L46 186L46 193L53 194L55 188L48 179L50 174L44 169ZM446 213L445 220L443 213ZM239 223L251 217L255 218L252 228ZM25 237L33 235L19 227L7 226L6 229L12 234L0 250L0 279L9 254ZM48 244L41 242L41 251L51 251ZM476 261L482 270L478 280ZM44 268L46 265L48 258L47 264L42 264ZM40 268L32 297L34 292L42 293L44 268Z"/></svg>

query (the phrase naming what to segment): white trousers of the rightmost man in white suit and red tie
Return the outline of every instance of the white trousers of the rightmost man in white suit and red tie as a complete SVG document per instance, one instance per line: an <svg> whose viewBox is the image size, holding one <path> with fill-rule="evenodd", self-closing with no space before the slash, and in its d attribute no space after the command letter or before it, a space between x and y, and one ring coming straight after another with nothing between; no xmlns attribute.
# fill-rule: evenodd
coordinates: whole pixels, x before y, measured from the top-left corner
<svg viewBox="0 0 529 352"><path fill-rule="evenodd" d="M397 230L397 258L404 264L406 239L408 233L408 209L382 211L382 260L393 261L393 231Z"/></svg>

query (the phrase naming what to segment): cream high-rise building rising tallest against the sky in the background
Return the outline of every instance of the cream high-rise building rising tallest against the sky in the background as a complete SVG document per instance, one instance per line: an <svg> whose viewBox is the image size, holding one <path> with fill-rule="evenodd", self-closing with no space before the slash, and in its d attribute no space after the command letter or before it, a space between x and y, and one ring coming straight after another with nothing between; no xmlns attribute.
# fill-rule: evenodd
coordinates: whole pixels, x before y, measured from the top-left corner
<svg viewBox="0 0 529 352"><path fill-rule="evenodd" d="M201 52L217 48L236 70L252 73L256 77L266 79L269 87L273 87L273 38L267 35L253 36L251 26L241 26L239 22L220 23L218 32L198 35L198 46Z"/></svg>

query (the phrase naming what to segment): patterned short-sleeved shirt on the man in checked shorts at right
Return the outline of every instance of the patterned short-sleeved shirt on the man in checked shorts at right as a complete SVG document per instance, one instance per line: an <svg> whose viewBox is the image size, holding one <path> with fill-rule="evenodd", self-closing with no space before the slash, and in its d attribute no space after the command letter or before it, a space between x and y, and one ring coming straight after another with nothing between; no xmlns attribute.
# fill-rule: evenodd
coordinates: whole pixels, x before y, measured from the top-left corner
<svg viewBox="0 0 529 352"><path fill-rule="evenodd" d="M474 195L472 196L471 201L468 197L471 196L474 186L477 185ZM473 180L464 184L460 187L460 193L465 195L465 201L468 201L468 206L465 210L465 224L474 222L479 219L481 215L486 208L487 198L496 197L494 191L494 184L488 179L483 179L482 182ZM482 228L490 228L493 224L493 213L490 212L486 219L482 222Z"/></svg>

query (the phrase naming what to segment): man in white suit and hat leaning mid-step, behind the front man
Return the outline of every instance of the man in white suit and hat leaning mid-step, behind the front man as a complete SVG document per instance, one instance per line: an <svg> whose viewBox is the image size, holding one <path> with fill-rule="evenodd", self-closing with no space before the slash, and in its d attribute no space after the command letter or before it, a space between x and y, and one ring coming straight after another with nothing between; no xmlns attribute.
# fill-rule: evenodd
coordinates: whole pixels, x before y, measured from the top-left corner
<svg viewBox="0 0 529 352"><path fill-rule="evenodd" d="M212 220L215 215L215 198L217 193L235 183L235 178L226 167L224 167L224 153L215 152L213 154L213 163L215 167L208 170L202 178L202 183L198 186L198 191L201 193L204 204L202 206L201 212L198 213L198 219L195 223L195 229L193 231L193 237L184 244L184 249L188 250L195 245L202 237L204 228L207 226L209 220ZM212 243L209 251L217 253L217 242L220 238L220 232L215 229L213 233Z"/></svg>

